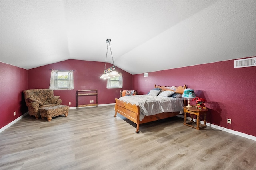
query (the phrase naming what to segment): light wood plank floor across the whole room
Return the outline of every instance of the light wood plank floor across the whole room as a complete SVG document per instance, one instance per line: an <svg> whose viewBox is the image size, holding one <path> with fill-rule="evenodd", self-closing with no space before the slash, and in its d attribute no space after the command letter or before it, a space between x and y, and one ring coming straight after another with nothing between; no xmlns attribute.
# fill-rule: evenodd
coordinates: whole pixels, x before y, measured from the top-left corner
<svg viewBox="0 0 256 170"><path fill-rule="evenodd" d="M0 169L255 170L256 141L172 117L140 126L114 105L71 109L47 122L26 116L0 133Z"/></svg>

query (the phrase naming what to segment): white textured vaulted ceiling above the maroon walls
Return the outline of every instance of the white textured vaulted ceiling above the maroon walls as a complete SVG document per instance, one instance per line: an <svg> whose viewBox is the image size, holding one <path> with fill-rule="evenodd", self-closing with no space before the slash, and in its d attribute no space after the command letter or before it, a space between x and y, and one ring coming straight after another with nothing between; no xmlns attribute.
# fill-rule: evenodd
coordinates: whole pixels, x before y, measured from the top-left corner
<svg viewBox="0 0 256 170"><path fill-rule="evenodd" d="M105 62L106 39L131 74L256 56L255 11L255 0L0 0L0 61Z"/></svg>

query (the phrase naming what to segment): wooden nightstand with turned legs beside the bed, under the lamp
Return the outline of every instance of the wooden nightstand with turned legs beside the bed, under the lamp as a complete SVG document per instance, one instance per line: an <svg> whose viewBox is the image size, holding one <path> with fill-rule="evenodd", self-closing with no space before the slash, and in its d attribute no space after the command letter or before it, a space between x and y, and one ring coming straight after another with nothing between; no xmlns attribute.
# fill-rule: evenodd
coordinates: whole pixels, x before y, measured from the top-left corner
<svg viewBox="0 0 256 170"><path fill-rule="evenodd" d="M204 107L202 110L198 110L195 106L192 107L183 107L183 111L184 111L184 125L193 127L197 130L200 130L202 128L206 127L206 112L208 111L208 109L206 107ZM187 113L189 113L191 115L191 120L189 122L187 122ZM193 121L193 115L197 116L196 122ZM200 124L200 115L204 115L204 124ZM196 126L193 126L193 124L196 123Z"/></svg>

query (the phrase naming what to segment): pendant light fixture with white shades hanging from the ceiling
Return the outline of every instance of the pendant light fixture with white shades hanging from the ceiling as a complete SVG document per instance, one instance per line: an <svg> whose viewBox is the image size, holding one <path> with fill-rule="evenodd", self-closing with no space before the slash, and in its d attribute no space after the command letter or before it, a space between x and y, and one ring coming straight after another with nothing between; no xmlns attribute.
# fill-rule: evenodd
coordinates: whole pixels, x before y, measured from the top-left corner
<svg viewBox="0 0 256 170"><path fill-rule="evenodd" d="M102 74L102 76L100 76L100 78L106 79L106 78L111 78L111 77L120 77L120 74L118 74L118 72L114 71L116 69L115 64L114 64L114 59L113 59L113 55L112 55L112 51L111 51L111 47L110 47L110 42L111 39L107 39L106 43L108 43L109 45L109 49L110 49L110 53L111 53L111 57L112 57L112 61L113 61L113 66L106 69L106 63L107 63L107 56L108 56L108 45L107 45L107 53L106 53L106 60L105 60L105 67L104 67L104 74Z"/></svg>

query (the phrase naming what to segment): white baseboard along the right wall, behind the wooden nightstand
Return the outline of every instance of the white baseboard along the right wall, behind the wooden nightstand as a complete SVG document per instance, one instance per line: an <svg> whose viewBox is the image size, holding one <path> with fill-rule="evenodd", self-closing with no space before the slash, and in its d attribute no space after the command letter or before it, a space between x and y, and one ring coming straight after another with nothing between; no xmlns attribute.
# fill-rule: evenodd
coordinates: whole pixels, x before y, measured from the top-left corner
<svg viewBox="0 0 256 170"><path fill-rule="evenodd" d="M183 115L178 115L178 117L181 117L184 119L184 116ZM191 120L190 117L187 117L187 120ZM196 119L193 119L193 121L196 121ZM204 121L200 121L201 124L204 124ZM220 131L225 131L225 132L228 132L228 133L232 133L234 135L238 135L238 136L241 136L241 137L245 137L245 138L248 138L248 139L252 139L254 141L256 141L256 137L255 136L252 136L252 135L248 135L246 133L242 133L242 132L238 132L238 131L234 131L234 130L231 130L231 129L228 129L228 128L225 128L225 127L221 127L221 126L218 126L218 125L213 125L213 124L210 124L210 123L207 123L206 122L206 125L208 127L212 127L214 129L218 129Z"/></svg>

